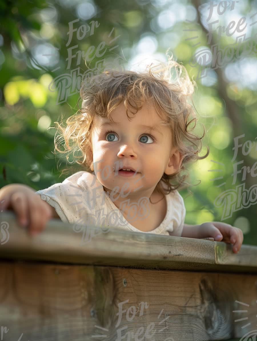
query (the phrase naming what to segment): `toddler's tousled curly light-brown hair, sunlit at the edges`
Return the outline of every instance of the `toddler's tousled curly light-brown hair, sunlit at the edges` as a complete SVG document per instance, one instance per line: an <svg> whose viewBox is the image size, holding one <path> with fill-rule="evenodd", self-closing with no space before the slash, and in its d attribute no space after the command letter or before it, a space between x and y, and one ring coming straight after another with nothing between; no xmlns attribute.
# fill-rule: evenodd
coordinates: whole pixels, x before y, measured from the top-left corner
<svg viewBox="0 0 257 341"><path fill-rule="evenodd" d="M87 172L91 172L93 150L91 136L95 117L111 119L112 110L123 102L127 117L130 119L128 110L135 115L144 103L151 102L156 113L172 131L172 146L176 147L182 155L180 169L172 175L164 173L156 184L156 190L164 195L188 187L185 181L189 176L187 168L197 160L206 158L210 150L207 147L204 156L198 155L202 150L201 139L205 135L203 124L202 136L192 133L196 129L197 118L192 106L187 103L187 97L191 97L194 93L195 81L190 81L185 67L173 61L172 57L168 59L168 65L162 62L152 68L151 65L147 66L149 70L146 68L146 72L109 69L89 80L83 79L80 90L81 109L79 108L76 114L67 119L66 128L62 128L58 122L55 122L58 126L57 130L61 132L59 138L65 141L65 150L61 151L58 148L56 138L55 148L60 153L73 152L74 158L83 159L77 160L76 163L83 165ZM173 66L177 82L171 81L170 69ZM155 68L157 70L153 72L152 69ZM180 71L178 72L177 69ZM185 77L181 76L182 70L185 71ZM194 126L189 128L191 123L194 123ZM72 146L70 142L73 142ZM82 156L75 156L77 150L82 152ZM67 155L67 160L68 157ZM186 174L182 175L185 170ZM166 184L166 188L163 188L161 182Z"/></svg>

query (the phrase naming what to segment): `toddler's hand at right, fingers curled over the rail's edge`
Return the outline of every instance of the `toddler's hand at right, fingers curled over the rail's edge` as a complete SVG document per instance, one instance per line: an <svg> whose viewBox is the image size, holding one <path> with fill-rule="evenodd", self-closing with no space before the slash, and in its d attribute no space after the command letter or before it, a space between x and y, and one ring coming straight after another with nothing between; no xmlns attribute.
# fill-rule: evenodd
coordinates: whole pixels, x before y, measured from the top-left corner
<svg viewBox="0 0 257 341"><path fill-rule="evenodd" d="M201 238L213 237L216 241L224 241L233 244L233 252L238 253L241 249L244 236L240 228L233 227L226 223L213 221L203 223L199 227ZM220 237L218 237L220 235Z"/></svg>

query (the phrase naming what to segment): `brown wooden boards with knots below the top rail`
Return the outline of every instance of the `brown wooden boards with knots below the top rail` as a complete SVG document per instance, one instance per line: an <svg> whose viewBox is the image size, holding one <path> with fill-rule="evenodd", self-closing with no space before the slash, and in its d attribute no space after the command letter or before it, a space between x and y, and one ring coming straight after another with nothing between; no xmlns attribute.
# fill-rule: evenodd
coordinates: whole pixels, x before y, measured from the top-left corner
<svg viewBox="0 0 257 341"><path fill-rule="evenodd" d="M146 330L151 341L229 340L256 329L257 275L21 261L2 261L0 273L4 341L22 333L22 341L133 341Z"/></svg>

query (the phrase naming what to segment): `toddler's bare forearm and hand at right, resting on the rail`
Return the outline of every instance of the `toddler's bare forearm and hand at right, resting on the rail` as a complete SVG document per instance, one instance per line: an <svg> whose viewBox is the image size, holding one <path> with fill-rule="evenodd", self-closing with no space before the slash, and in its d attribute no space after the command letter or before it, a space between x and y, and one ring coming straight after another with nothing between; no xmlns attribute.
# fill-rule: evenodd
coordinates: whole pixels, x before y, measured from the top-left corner
<svg viewBox="0 0 257 341"><path fill-rule="evenodd" d="M201 225L184 224L181 237L207 238L212 237L215 241L224 241L233 244L233 252L240 251L243 243L243 232L240 228L218 221L203 223Z"/></svg>

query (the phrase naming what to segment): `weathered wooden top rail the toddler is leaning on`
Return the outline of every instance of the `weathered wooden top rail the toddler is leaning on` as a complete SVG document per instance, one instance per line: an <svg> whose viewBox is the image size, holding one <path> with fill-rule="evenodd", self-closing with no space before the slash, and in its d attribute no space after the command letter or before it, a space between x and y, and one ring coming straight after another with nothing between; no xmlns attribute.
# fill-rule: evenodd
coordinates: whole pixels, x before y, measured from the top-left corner
<svg viewBox="0 0 257 341"><path fill-rule="evenodd" d="M87 226L91 240L85 240L83 231L76 233L74 225L60 220L49 221L43 233L31 237L18 226L13 212L2 212L0 221L9 224L9 240L0 247L1 258L144 269L257 272L255 246L243 245L238 254L233 254L231 245L224 242L119 228L103 233L103 228L94 226Z"/></svg>

